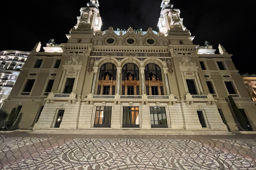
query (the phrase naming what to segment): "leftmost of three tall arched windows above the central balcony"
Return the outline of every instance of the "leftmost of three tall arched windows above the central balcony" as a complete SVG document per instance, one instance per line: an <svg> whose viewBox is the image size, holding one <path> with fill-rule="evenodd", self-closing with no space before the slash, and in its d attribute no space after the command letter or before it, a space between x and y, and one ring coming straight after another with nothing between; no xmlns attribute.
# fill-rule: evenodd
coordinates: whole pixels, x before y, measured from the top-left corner
<svg viewBox="0 0 256 170"><path fill-rule="evenodd" d="M98 95L115 95L116 66L106 63L100 67Z"/></svg>

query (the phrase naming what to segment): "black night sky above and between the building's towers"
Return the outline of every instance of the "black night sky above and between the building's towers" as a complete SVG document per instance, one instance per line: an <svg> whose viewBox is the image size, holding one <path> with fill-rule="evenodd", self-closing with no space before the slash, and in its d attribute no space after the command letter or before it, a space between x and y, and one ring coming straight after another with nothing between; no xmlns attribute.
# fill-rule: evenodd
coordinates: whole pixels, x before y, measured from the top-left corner
<svg viewBox="0 0 256 170"><path fill-rule="evenodd" d="M89 1L89 0L88 0ZM158 32L162 0L99 0L102 30L110 26ZM223 45L240 73L256 73L256 1L246 0L171 0L179 8L183 23L194 44L210 41L213 48ZM54 39L66 43L66 34L76 24L80 8L87 1L4 1L0 11L0 51L18 49L30 51L38 41L45 46Z"/></svg>

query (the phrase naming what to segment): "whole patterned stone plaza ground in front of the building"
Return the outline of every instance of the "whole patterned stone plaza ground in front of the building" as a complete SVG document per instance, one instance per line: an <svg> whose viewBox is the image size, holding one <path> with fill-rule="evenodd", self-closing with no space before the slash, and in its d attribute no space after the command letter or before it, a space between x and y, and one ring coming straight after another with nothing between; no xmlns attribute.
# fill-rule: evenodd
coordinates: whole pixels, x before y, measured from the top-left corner
<svg viewBox="0 0 256 170"><path fill-rule="evenodd" d="M15 134L15 135L14 135ZM256 169L254 135L2 133L1 169Z"/></svg>

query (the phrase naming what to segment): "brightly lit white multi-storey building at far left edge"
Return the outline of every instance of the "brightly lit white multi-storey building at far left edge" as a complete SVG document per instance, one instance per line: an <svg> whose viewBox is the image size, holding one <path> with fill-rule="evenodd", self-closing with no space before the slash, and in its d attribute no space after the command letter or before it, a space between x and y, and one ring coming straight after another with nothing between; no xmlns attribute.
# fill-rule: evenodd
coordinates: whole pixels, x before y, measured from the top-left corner
<svg viewBox="0 0 256 170"><path fill-rule="evenodd" d="M10 95L28 55L28 52L19 50L0 52L0 108L4 100Z"/></svg>

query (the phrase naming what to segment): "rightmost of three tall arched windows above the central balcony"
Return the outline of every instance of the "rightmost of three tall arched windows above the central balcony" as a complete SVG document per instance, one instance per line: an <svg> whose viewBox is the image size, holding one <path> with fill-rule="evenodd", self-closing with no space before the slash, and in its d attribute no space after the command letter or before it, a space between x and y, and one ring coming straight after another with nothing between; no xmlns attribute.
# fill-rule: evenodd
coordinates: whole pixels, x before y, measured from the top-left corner
<svg viewBox="0 0 256 170"><path fill-rule="evenodd" d="M146 65L145 80L147 95L164 95L162 73L158 65Z"/></svg>

